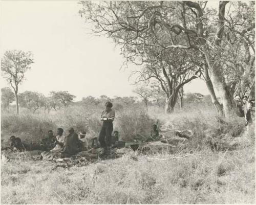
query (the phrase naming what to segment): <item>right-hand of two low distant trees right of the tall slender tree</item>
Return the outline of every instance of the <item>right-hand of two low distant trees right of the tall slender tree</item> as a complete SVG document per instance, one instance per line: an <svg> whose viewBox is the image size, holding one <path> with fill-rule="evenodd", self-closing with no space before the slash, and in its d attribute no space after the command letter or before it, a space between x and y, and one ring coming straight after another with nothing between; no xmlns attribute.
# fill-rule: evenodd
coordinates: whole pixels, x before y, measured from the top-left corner
<svg viewBox="0 0 256 205"><path fill-rule="evenodd" d="M76 98L76 96L71 95L68 91L51 91L50 96L53 101L62 104L64 107L67 107Z"/></svg>

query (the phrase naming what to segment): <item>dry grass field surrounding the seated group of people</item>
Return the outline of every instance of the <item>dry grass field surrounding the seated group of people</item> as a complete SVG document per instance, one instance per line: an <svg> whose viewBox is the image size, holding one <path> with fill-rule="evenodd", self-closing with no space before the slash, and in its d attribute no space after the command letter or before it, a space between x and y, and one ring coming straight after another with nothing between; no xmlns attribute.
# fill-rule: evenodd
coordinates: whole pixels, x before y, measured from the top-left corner
<svg viewBox="0 0 256 205"><path fill-rule="evenodd" d="M3 113L2 140L5 143L10 134L16 134L36 141L49 127L59 126L86 129L89 137L95 136L101 108L88 110L70 107L50 116L22 114L18 119ZM130 153L70 168L53 169L54 163L13 153L9 162L1 160L1 203L255 203L254 128L245 131L243 119L221 123L210 106L190 106L172 115L150 107L149 118L142 108L134 107L116 115L115 129L124 140L136 133L148 134L152 123L191 129L194 138L176 155ZM216 140L243 143L232 151L212 151L206 143L209 130Z"/></svg>

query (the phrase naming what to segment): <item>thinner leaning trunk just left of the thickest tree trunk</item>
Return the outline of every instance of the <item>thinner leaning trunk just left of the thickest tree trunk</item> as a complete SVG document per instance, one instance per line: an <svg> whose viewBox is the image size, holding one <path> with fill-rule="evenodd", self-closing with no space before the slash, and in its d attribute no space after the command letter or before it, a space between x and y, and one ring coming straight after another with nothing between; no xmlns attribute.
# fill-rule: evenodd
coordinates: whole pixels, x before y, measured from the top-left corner
<svg viewBox="0 0 256 205"><path fill-rule="evenodd" d="M203 65L203 72L204 72L205 83L206 83L206 86L207 86L208 91L210 93L211 102L214 104L218 114L220 116L222 116L223 115L222 106L221 106L220 102L218 101L218 99L216 97L214 86L212 85L212 82L211 82L210 77L209 77L207 64Z"/></svg>

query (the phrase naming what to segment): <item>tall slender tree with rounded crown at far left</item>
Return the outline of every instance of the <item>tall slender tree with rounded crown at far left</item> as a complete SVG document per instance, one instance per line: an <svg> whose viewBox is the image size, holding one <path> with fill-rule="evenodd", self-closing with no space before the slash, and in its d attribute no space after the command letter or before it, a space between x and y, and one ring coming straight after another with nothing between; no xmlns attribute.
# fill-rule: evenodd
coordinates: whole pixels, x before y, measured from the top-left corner
<svg viewBox="0 0 256 205"><path fill-rule="evenodd" d="M18 115L18 86L24 81L25 73L30 70L33 63L32 53L24 51L6 51L2 61L1 70L3 77L14 90L16 100L16 114Z"/></svg>

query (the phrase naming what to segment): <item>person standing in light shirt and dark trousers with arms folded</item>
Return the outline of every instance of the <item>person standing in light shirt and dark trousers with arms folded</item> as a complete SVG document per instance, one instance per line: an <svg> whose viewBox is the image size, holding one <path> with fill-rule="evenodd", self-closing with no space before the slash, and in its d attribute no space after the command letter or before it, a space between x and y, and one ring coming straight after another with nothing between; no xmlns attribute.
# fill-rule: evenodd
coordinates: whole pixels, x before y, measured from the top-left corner
<svg viewBox="0 0 256 205"><path fill-rule="evenodd" d="M104 149L103 154L108 154L111 148L111 135L113 131L113 121L115 119L115 111L111 109L113 104L106 102L106 108L101 114L101 121L103 121L100 133L99 142L101 147Z"/></svg>

